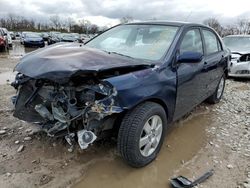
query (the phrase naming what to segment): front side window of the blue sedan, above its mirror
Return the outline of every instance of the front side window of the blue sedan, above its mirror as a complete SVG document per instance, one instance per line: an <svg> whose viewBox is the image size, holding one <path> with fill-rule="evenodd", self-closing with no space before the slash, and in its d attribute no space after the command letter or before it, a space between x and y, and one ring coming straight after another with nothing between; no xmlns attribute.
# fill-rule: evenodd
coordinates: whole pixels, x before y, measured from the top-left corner
<svg viewBox="0 0 250 188"><path fill-rule="evenodd" d="M180 54L184 52L199 52L203 54L202 40L199 29L189 30L180 45Z"/></svg>

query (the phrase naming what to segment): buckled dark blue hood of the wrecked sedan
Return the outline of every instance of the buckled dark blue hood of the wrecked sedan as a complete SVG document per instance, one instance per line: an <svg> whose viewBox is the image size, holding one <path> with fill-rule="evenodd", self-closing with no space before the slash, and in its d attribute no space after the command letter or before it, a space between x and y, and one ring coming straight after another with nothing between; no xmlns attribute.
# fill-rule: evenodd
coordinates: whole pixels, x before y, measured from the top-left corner
<svg viewBox="0 0 250 188"><path fill-rule="evenodd" d="M24 56L14 71L35 79L67 81L76 73L95 73L116 68L151 66L152 63L107 53L77 43L59 43Z"/></svg>

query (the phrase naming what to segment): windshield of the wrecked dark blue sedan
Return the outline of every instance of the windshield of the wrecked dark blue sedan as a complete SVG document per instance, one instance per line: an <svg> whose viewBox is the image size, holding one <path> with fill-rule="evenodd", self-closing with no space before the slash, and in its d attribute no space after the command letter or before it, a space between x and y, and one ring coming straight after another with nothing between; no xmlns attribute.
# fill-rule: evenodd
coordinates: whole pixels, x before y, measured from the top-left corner
<svg viewBox="0 0 250 188"><path fill-rule="evenodd" d="M138 59L159 60L171 45L176 26L120 25L99 35L86 46Z"/></svg>

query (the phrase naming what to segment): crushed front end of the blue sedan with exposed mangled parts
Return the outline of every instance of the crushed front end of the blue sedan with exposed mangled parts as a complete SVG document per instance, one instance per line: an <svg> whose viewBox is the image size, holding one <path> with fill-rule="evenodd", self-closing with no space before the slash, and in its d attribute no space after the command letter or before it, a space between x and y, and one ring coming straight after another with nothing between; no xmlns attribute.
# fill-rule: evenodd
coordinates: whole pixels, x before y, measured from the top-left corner
<svg viewBox="0 0 250 188"><path fill-rule="evenodd" d="M116 89L95 77L62 84L18 73L12 86L15 117L38 124L50 136L64 136L69 144L77 137L82 149L110 128L112 114L123 111Z"/></svg>

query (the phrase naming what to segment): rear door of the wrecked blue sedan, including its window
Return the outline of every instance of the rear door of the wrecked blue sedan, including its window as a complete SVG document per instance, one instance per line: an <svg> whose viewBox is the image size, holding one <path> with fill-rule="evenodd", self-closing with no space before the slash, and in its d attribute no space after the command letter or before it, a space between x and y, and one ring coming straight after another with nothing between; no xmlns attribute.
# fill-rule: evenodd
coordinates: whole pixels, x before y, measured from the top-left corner
<svg viewBox="0 0 250 188"><path fill-rule="evenodd" d="M223 74L223 63L226 63L227 60L224 57L224 51L217 35L208 29L202 29L202 35L205 48L204 77L206 82L206 98L215 91Z"/></svg>

